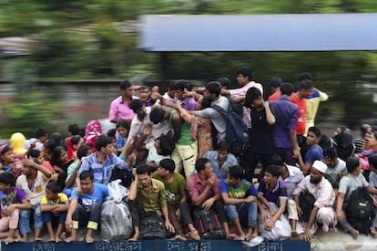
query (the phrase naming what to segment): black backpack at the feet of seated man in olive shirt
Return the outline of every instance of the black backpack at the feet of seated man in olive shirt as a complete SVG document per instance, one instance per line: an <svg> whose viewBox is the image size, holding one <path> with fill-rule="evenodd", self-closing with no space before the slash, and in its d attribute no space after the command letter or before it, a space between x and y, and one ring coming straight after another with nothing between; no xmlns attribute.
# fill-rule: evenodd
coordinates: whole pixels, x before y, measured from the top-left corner
<svg viewBox="0 0 377 251"><path fill-rule="evenodd" d="M140 240L165 239L166 229L164 220L156 212L150 211L140 220Z"/></svg>

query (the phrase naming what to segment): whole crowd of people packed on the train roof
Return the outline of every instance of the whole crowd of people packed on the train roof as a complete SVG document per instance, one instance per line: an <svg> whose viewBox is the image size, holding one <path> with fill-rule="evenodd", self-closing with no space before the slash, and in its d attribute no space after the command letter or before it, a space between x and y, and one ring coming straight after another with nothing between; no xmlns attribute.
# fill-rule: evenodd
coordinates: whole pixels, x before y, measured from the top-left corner
<svg viewBox="0 0 377 251"><path fill-rule="evenodd" d="M164 95L124 80L110 104L114 129L106 132L90 120L85 130L69 125L66 139L44 129L27 140L13 133L0 144L0 237L25 242L33 226L34 241L46 227L49 241L72 242L84 225L84 240L92 243L104 203L114 197L108 185L120 179L128 193L116 203L132 219L124 225L128 241L145 237L151 213L162 219L166 237L206 238L200 210L216 214L226 239L311 241L338 229L377 238L377 129L362 125L356 139L345 126L322 135L315 117L329 97L309 73L299 75L296 91L271 78L267 100L250 68L237 73L238 89L229 89L228 78L195 87L181 79ZM242 119L246 149L232 147L229 117L218 109ZM356 191L372 204L365 219L354 214L366 210L353 203Z"/></svg>

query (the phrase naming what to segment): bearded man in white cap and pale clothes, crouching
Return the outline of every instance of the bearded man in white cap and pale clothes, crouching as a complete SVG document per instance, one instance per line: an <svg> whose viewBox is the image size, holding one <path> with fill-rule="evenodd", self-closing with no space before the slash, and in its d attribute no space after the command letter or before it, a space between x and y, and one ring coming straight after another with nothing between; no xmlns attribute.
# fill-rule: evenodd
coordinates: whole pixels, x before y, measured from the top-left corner
<svg viewBox="0 0 377 251"><path fill-rule="evenodd" d="M315 233L317 228L317 233L320 234L322 231L328 232L329 229L334 227L337 223L333 209L335 193L332 190L331 183L323 177L326 170L327 165L324 162L315 161L311 166L311 175L306 176L293 192L293 198L299 215L303 214L299 204L300 193L307 190L315 198L314 207L311 211L308 223L303 224L299 221L299 225L297 226L297 233L304 233L303 239L308 242L311 241L311 235ZM321 228L319 228L317 224L321 225ZM305 230L303 229L303 225L306 225Z"/></svg>

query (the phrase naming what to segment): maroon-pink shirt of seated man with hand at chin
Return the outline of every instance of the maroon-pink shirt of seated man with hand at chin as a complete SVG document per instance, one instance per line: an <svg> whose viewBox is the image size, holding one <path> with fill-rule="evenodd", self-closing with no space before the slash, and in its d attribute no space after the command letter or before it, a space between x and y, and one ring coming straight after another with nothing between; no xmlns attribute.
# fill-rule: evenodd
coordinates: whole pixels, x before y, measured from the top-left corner
<svg viewBox="0 0 377 251"><path fill-rule="evenodd" d="M215 173L212 173L212 177L214 178L215 182L212 186L212 189L209 191L209 195L206 198L206 200L210 197L213 197L215 194L220 193L219 178L218 176L216 176ZM204 189L206 189L207 184L207 180L204 182L200 181L198 173L189 177L189 180L186 183L186 189L189 192L189 197L191 198L192 204L195 204L197 202L199 195L204 192Z"/></svg>

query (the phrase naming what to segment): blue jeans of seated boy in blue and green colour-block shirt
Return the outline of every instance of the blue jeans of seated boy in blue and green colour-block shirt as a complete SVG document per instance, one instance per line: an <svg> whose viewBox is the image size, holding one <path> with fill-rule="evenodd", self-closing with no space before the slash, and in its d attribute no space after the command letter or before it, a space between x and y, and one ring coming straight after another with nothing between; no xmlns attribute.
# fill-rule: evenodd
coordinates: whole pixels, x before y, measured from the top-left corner
<svg viewBox="0 0 377 251"><path fill-rule="evenodd" d="M257 226L258 219L258 205L257 202L243 203L243 204L226 204L225 211L227 212L229 220L239 218L239 222L248 222L248 226Z"/></svg>

